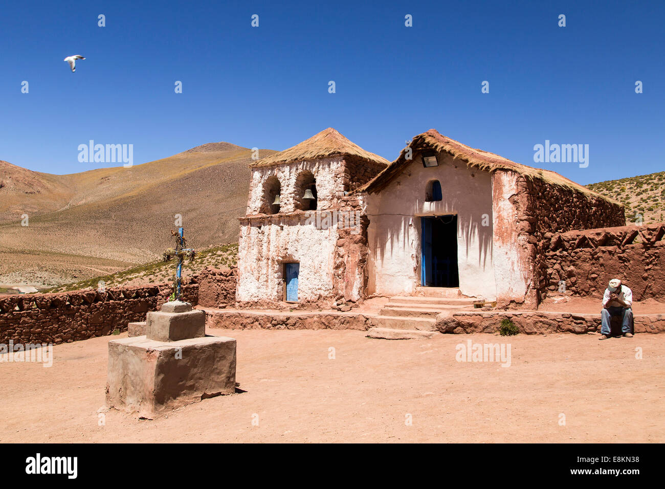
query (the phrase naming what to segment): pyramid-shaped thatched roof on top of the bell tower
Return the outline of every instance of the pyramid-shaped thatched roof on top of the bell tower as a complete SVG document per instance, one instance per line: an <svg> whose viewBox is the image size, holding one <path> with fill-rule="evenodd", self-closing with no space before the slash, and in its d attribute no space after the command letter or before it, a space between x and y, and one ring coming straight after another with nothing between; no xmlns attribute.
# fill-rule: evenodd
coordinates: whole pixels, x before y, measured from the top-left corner
<svg viewBox="0 0 665 489"><path fill-rule="evenodd" d="M311 138L296 144L293 148L271 154L250 164L250 168L273 166L294 161L317 160L328 156L354 156L358 160L388 165L390 162L378 154L370 153L350 142L337 130L329 127Z"/></svg>

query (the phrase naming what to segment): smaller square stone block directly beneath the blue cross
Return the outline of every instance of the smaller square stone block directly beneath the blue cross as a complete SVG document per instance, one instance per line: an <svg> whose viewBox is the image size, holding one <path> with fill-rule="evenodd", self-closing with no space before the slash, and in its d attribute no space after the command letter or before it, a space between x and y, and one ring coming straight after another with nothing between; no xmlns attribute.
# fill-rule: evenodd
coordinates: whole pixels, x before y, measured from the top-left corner
<svg viewBox="0 0 665 489"><path fill-rule="evenodd" d="M180 341L205 336L205 311L148 313L146 336L156 341Z"/></svg>

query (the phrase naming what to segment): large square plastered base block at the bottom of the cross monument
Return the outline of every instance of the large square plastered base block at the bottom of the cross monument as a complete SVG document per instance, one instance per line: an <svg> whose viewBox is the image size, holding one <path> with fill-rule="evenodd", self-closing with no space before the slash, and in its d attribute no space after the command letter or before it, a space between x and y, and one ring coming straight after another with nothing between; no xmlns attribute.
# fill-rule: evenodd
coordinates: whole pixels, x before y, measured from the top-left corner
<svg viewBox="0 0 665 489"><path fill-rule="evenodd" d="M233 338L206 336L165 343L139 336L108 342L109 408L152 419L234 391Z"/></svg>

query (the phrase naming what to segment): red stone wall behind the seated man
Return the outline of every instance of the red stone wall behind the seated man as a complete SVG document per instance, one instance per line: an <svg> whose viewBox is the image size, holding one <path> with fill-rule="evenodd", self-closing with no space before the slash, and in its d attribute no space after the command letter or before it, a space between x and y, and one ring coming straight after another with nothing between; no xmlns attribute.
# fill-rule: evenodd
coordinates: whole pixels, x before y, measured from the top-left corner
<svg viewBox="0 0 665 489"><path fill-rule="evenodd" d="M665 224L569 231L548 236L547 271L541 297L548 291L602 297L610 279L632 290L635 301L665 301Z"/></svg>

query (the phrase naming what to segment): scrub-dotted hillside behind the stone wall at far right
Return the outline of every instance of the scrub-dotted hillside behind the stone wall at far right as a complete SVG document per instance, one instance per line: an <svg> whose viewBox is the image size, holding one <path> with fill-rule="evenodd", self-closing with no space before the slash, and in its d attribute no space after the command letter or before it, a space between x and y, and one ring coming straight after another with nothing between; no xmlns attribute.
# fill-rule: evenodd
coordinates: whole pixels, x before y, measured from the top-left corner
<svg viewBox="0 0 665 489"><path fill-rule="evenodd" d="M626 206L626 224L665 222L665 172L607 180L587 185L587 188Z"/></svg>

